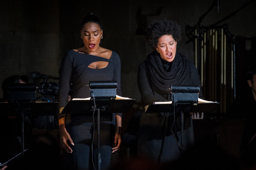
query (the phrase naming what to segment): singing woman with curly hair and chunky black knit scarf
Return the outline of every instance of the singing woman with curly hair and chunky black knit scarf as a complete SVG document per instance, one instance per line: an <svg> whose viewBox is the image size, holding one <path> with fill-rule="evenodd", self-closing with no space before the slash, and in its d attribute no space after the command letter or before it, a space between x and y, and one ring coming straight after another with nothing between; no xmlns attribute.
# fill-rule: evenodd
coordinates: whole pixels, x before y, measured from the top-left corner
<svg viewBox="0 0 256 170"><path fill-rule="evenodd" d="M153 52L138 66L137 82L145 105L171 101L174 85L198 85L204 99L198 71L193 63L178 53L180 26L166 18L156 20L146 29L146 40ZM163 165L178 160L183 149L194 145L191 114L184 114L184 139L181 146L181 116L167 113L142 113L138 132L137 154L140 158Z"/></svg>

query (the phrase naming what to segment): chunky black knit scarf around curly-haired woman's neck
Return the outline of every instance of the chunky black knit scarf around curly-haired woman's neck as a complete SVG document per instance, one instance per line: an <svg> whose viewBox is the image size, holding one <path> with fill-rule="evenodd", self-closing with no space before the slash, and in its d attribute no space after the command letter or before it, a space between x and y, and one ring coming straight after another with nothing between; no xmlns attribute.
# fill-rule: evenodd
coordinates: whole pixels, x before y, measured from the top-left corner
<svg viewBox="0 0 256 170"><path fill-rule="evenodd" d="M160 54L156 51L147 56L146 67L152 83L164 93L170 93L168 88L172 84L183 84L189 72L186 57L179 53L176 53L168 72L164 70Z"/></svg>

